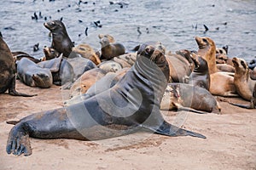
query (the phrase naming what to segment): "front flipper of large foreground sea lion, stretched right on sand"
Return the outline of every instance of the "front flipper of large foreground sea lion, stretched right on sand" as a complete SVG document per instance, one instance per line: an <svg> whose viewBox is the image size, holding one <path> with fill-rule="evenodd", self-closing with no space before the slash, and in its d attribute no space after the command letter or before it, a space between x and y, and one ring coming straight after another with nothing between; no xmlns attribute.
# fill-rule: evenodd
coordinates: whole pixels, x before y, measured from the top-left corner
<svg viewBox="0 0 256 170"><path fill-rule="evenodd" d="M147 128L150 130L153 130L154 133L159 133L166 136L193 136L201 139L207 139L207 137L205 137L200 133L193 133L183 128L173 126L172 124L166 121L164 121L163 124L157 129L154 129L153 127L147 127Z"/></svg>

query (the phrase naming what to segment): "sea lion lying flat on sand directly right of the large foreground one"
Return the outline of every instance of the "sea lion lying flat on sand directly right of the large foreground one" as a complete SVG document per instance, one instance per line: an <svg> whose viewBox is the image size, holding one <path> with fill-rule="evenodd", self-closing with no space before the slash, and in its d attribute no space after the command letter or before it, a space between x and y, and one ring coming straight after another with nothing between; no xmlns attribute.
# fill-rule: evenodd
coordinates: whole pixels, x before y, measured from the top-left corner
<svg viewBox="0 0 256 170"><path fill-rule="evenodd" d="M161 110L192 111L204 114L220 113L218 101L205 88L185 83L168 83L166 92L160 103Z"/></svg>

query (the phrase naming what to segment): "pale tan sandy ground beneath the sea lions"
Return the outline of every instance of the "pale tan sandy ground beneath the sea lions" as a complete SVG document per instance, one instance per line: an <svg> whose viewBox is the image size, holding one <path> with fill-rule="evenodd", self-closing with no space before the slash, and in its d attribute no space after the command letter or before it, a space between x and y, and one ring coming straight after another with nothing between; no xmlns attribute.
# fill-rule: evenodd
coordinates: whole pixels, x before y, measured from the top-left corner
<svg viewBox="0 0 256 170"><path fill-rule="evenodd" d="M168 122L185 118L183 128L207 139L145 132L102 141L31 139L32 156L8 155L13 125L6 121L63 106L60 87L30 88L19 81L16 87L38 96L0 94L0 169L256 169L256 110L226 102L247 103L240 98L218 98L221 115L162 111Z"/></svg>

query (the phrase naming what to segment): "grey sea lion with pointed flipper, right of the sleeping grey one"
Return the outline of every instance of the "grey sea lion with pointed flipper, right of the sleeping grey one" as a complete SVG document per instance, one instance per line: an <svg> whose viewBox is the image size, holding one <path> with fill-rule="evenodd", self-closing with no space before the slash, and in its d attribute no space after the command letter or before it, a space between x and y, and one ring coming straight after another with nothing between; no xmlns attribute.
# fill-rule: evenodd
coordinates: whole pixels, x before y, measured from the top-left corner
<svg viewBox="0 0 256 170"><path fill-rule="evenodd" d="M57 86L74 81L73 66L70 65L67 59L62 58L62 54L58 58L42 61L38 65L51 71L53 83Z"/></svg>

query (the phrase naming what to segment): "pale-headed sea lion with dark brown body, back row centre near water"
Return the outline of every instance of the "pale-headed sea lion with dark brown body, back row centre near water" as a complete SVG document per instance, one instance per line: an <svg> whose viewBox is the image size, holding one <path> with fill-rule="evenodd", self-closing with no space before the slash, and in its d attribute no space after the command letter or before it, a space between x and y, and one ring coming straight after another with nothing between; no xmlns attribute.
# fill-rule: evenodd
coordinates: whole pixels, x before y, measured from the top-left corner
<svg viewBox="0 0 256 170"><path fill-rule="evenodd" d="M110 43L108 37L102 37L102 59L113 59L113 57L125 54L125 47L120 43Z"/></svg>

